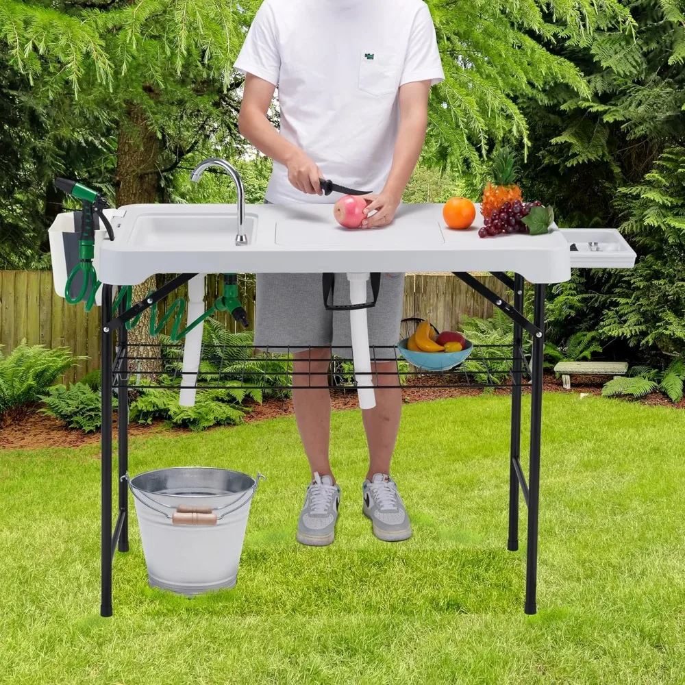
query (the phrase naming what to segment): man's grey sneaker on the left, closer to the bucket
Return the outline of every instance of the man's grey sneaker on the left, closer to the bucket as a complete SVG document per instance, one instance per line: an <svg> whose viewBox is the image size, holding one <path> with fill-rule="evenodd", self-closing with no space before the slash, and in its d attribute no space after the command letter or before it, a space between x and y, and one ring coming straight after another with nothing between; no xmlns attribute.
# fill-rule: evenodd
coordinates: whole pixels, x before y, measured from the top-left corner
<svg viewBox="0 0 685 685"><path fill-rule="evenodd" d="M334 485L329 475L322 478L314 472L297 521L297 542L316 547L330 545L336 536L339 506L340 486Z"/></svg>

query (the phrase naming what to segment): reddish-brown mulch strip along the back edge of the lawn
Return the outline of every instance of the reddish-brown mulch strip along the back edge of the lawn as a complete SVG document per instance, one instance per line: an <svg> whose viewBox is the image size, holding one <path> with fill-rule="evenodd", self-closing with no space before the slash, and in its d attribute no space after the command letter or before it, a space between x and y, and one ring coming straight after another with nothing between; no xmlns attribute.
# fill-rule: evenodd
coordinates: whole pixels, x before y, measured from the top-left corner
<svg viewBox="0 0 685 685"><path fill-rule="evenodd" d="M606 376L573 376L571 390L564 390L560 378L553 374L545 374L543 388L547 392L558 393L587 393L588 395L601 395L601 388L606 383ZM436 383L439 382L436 380ZM530 392L529 388L523 389L524 393ZM509 395L509 388L494 390L495 395ZM406 403L423 402L432 399L447 399L451 397L476 397L482 394L481 388L408 388L402 391ZM639 401L649 406L668 406L685 409L685 399L673 404L667 397L660 393L647 395L639 400L625 399L625 401ZM358 408L356 393L347 391L332 393L332 405L334 410ZM292 400L274 397L267 399L263 404L248 405L250 411L245 415L245 423L275 419L279 416L291 416ZM182 428L168 429L164 421L156 421L152 425L131 423L129 436L148 435L155 432L189 432ZM116 439L116 414L112 437ZM16 419L12 423L0 428L0 449L40 449L42 447L81 447L82 445L97 445L100 442L100 434L91 433L84 435L74 429L64 427L62 421L53 419L51 416L29 412L26 416Z"/></svg>

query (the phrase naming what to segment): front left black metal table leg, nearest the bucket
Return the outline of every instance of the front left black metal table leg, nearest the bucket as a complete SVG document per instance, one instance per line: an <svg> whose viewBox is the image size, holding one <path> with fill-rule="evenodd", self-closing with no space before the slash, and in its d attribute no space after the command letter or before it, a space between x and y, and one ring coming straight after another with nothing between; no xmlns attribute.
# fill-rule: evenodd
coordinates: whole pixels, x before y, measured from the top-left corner
<svg viewBox="0 0 685 685"><path fill-rule="evenodd" d="M102 286L100 356L102 392L100 615L112 616L112 286Z"/></svg>

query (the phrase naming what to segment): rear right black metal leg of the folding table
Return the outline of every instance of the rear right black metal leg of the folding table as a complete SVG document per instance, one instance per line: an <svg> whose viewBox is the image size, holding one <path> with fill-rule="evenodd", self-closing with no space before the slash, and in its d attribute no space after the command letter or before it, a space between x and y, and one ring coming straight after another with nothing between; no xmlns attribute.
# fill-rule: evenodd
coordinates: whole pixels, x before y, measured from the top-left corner
<svg viewBox="0 0 685 685"><path fill-rule="evenodd" d="M514 275L514 309L523 314L523 276ZM509 462L509 537L507 549L519 549L519 479L516 465L521 459L521 382L523 364L523 328L514 321L514 368L512 371L512 425Z"/></svg>

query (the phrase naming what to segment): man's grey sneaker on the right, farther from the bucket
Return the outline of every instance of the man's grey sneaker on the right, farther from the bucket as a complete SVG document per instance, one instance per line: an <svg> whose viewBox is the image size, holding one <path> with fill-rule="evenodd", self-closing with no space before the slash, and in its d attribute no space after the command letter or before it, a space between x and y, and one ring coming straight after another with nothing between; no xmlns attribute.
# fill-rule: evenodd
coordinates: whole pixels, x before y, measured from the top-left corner
<svg viewBox="0 0 685 685"><path fill-rule="evenodd" d="M397 492L397 484L386 473L374 473L362 485L364 516L373 523L373 534L379 540L396 542L412 536L412 524Z"/></svg>

